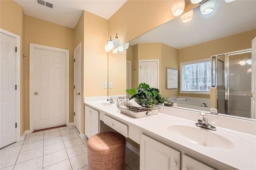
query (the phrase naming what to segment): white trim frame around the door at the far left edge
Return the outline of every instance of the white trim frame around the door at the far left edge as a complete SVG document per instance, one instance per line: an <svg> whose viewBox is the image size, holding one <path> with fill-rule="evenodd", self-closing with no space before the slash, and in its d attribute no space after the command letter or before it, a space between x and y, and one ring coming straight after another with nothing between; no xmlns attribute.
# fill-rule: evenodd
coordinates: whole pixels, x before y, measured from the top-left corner
<svg viewBox="0 0 256 170"><path fill-rule="evenodd" d="M0 32L12 36L16 38L16 47L17 47L17 52L16 52L16 85L17 85L17 90L16 90L16 123L17 123L17 128L16 128L16 142L20 141L20 36L13 34L12 32L9 32L7 30L4 30L0 28Z"/></svg>

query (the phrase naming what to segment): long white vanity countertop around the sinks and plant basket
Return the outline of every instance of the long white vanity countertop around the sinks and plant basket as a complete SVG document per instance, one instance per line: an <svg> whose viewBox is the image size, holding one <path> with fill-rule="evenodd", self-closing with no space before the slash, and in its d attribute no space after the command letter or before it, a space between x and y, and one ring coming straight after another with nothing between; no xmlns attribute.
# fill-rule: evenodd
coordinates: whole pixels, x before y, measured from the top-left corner
<svg viewBox="0 0 256 170"><path fill-rule="evenodd" d="M206 156L206 158L209 157L211 159L218 160L219 162L222 162L228 166L232 166L238 169L254 169L254 170L256 169L256 135L255 134L239 132L236 130L218 127L214 125L216 126L217 130L216 131L208 130L208 132L225 137L226 139L228 139L234 144L234 147L230 146L230 148L228 149L218 148L218 147L206 147L206 146L198 145L188 141L188 139L186 139L186 136L177 137L175 133L172 134L170 131L167 130L168 126L170 125L170 122L172 124L173 123L179 124L179 122L180 123L182 122L196 123L197 121L196 118L189 120L189 119L183 119L180 117L174 117L172 115L168 115L168 113L165 113L165 114L158 113L157 115L136 119L128 115L125 115L123 113L120 113L120 110L116 107L116 104L108 105L104 103L109 103L109 102L107 101L85 102L86 105L98 111L104 111L111 117L122 120L123 123L127 123L128 125L134 125L136 127L139 127L142 130L148 131L152 134L160 136L161 138L164 138L164 140L172 144L177 144L177 145L186 147L192 150L195 154L202 154L203 156ZM161 108L162 107L160 107L159 112L165 112L166 109L168 109L169 112L177 112L177 111L179 113L184 112L181 109L173 110L175 108L166 108L166 107L163 107L163 109ZM192 111L185 111L185 112L194 113ZM215 120L216 119L218 119L218 117L215 118ZM192 121L192 120L195 120L195 121ZM209 120L209 117L208 117L208 120ZM242 126L242 125L233 125L233 126Z"/></svg>

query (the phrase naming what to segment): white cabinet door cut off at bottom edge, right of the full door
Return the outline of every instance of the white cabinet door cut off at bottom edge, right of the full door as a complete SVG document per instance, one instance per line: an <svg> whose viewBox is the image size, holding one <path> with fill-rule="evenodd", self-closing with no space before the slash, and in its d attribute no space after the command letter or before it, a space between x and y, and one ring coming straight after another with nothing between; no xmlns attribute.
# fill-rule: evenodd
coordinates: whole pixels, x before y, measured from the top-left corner
<svg viewBox="0 0 256 170"><path fill-rule="evenodd" d="M182 170L215 170L214 168L191 158L190 156L182 156Z"/></svg>

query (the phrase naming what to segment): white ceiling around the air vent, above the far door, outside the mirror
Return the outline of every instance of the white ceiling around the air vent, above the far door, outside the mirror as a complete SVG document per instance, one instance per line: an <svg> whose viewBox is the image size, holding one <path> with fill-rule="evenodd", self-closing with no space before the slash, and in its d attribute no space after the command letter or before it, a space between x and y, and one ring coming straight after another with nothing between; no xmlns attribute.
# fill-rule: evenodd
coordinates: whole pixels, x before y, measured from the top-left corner
<svg viewBox="0 0 256 170"><path fill-rule="evenodd" d="M84 10L109 19L126 0L44 0L54 8L42 6L37 0L14 0L20 4L25 15L75 28Z"/></svg>

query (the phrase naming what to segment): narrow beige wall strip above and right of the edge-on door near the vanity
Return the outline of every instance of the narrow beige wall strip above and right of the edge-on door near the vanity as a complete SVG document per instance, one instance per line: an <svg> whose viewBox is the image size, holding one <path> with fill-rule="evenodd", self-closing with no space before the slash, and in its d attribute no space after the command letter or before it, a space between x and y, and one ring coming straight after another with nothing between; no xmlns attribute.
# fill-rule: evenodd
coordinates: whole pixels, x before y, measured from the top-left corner
<svg viewBox="0 0 256 170"><path fill-rule="evenodd" d="M84 103L84 12L74 28L74 49L81 42L81 103ZM74 102L73 102L74 103ZM71 116L71 115L70 115ZM72 115L73 117L73 115ZM74 117L73 117L74 119ZM81 130L84 134L84 104L81 105Z"/></svg>

